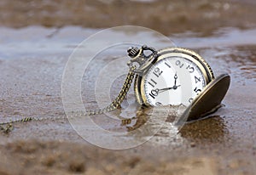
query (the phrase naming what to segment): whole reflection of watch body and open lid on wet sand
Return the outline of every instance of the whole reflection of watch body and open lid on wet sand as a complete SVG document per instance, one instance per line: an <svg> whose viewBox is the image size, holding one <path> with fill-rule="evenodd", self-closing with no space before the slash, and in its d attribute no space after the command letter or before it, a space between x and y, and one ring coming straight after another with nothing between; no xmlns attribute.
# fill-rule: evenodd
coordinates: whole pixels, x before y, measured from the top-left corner
<svg viewBox="0 0 256 175"><path fill-rule="evenodd" d="M163 115L164 110L169 110L167 115ZM152 116L152 108L141 108L137 110L135 122L123 119L122 126L126 126L129 136L139 138L154 134L154 137L150 138L151 142L172 146L182 144L184 138L195 143L219 143L229 137L229 130L220 116L207 116L201 120L188 122L178 131L175 121L181 117L183 110L185 107L162 107L158 109L156 116ZM159 128L156 133L155 128Z"/></svg>

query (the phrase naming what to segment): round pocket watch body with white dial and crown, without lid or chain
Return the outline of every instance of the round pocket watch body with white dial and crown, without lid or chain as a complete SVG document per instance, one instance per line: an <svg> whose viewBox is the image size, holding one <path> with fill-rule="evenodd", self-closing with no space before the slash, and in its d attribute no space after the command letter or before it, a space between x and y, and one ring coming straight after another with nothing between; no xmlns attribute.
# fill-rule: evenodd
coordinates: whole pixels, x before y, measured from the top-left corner
<svg viewBox="0 0 256 175"><path fill-rule="evenodd" d="M145 53L152 52L149 55ZM156 51L143 46L127 50L129 66L139 65L134 82L137 102L146 106L189 105L214 79L212 69L199 54L187 48Z"/></svg>

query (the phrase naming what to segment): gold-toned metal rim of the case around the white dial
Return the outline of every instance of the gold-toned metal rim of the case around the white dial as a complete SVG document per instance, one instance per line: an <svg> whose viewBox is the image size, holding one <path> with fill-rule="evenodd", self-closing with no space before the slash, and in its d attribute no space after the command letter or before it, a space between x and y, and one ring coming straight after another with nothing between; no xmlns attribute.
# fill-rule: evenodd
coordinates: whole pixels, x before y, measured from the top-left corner
<svg viewBox="0 0 256 175"><path fill-rule="evenodd" d="M199 67L207 84L209 82L212 82L212 80L214 79L214 75L210 65L207 64L205 59L203 59L199 54L196 54L192 50L189 50L187 48L163 48L157 51L156 55L157 56L155 56L154 54L151 57L149 57L150 61L148 61L147 64L143 65L143 68L141 69L143 70L143 72L141 74L137 74L137 76L135 77L134 92L136 95L137 102L141 105L150 106L150 104L148 104L148 101L146 99L146 94L144 89L145 75L147 74L149 68L152 65L155 65L161 59L165 59L171 56L172 57L182 56L183 58L189 59L190 61L194 62L195 65Z"/></svg>

